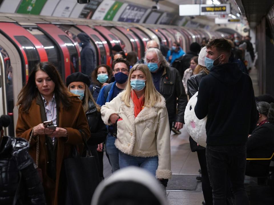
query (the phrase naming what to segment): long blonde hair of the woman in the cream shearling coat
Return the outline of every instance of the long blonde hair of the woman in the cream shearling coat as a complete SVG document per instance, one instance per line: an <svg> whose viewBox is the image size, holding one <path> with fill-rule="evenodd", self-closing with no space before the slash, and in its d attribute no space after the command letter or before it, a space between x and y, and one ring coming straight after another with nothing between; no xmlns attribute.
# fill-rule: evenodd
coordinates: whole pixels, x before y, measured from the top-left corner
<svg viewBox="0 0 274 205"><path fill-rule="evenodd" d="M161 94L154 87L150 70L149 70L148 66L144 65L144 64L136 64L130 69L130 73L128 75L128 82L126 84L126 89L125 89L124 95L122 96L121 100L126 104L126 106L128 106L128 107L130 106L129 101L130 101L131 92L132 92L132 88L130 85L130 78L131 78L132 73L136 70L142 71L146 76L146 87L144 88L145 89L144 106L152 107L152 106L154 106L155 103L161 101Z"/></svg>

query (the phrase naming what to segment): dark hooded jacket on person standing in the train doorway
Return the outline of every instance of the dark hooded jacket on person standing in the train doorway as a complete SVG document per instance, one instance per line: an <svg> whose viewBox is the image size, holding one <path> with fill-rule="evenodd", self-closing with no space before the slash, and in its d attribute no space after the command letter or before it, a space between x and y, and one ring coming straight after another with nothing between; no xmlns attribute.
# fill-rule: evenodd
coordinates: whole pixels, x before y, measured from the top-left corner
<svg viewBox="0 0 274 205"><path fill-rule="evenodd" d="M88 38L86 36L82 36L84 34L78 34L78 38L82 43L82 50L80 53L81 57L81 72L90 76L92 71L96 67L96 55L93 46L90 44Z"/></svg>

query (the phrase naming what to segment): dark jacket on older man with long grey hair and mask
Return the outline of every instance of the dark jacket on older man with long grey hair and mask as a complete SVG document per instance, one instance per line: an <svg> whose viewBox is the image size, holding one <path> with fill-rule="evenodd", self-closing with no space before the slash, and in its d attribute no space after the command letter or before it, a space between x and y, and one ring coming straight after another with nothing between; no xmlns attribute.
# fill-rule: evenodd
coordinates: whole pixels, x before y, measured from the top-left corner
<svg viewBox="0 0 274 205"><path fill-rule="evenodd" d="M184 114L188 98L178 70L163 67L164 73L160 80L160 93L166 99L169 121L184 123ZM177 106L178 104L178 106Z"/></svg>

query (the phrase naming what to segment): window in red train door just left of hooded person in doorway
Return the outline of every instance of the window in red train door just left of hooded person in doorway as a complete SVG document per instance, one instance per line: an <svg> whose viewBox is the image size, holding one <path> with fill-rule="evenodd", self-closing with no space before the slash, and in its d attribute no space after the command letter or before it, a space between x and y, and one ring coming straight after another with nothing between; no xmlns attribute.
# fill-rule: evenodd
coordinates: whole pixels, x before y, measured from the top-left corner
<svg viewBox="0 0 274 205"><path fill-rule="evenodd" d="M74 43L65 35L59 35L59 38L65 43L65 46L68 48L70 56L70 72L75 73L79 71L79 56L75 48Z"/></svg>

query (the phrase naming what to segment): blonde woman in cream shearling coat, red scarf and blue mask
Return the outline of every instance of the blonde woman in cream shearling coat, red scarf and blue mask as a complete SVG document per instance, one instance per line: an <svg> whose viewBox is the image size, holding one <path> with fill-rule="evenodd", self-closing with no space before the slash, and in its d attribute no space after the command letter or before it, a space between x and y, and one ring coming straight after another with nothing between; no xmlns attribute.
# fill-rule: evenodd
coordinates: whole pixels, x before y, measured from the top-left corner
<svg viewBox="0 0 274 205"><path fill-rule="evenodd" d="M164 97L147 65L136 64L126 89L101 108L106 125L117 123L115 146L120 168L138 166L158 179L170 179L170 128Z"/></svg>

